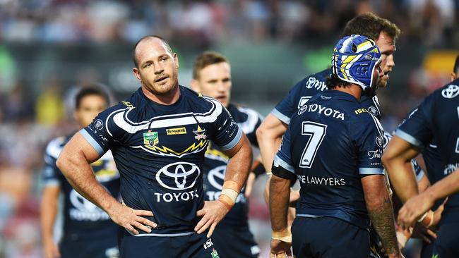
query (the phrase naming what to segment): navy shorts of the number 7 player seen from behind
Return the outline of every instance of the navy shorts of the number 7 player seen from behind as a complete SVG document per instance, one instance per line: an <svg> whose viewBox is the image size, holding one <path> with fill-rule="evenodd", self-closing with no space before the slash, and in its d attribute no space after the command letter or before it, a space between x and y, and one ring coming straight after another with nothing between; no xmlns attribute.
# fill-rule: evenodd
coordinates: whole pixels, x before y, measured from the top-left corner
<svg viewBox="0 0 459 258"><path fill-rule="evenodd" d="M297 217L292 247L297 258L368 258L370 237L366 229L333 217Z"/></svg>

